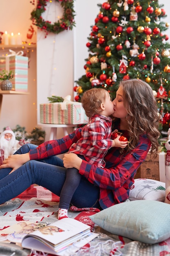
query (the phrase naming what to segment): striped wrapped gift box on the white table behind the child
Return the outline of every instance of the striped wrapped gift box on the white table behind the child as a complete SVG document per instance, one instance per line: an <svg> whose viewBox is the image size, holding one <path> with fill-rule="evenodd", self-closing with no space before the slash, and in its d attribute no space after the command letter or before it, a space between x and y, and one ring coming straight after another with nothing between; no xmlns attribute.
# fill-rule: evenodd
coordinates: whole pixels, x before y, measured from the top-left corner
<svg viewBox="0 0 170 256"><path fill-rule="evenodd" d="M88 117L80 102L46 103L40 104L40 123L87 124Z"/></svg>

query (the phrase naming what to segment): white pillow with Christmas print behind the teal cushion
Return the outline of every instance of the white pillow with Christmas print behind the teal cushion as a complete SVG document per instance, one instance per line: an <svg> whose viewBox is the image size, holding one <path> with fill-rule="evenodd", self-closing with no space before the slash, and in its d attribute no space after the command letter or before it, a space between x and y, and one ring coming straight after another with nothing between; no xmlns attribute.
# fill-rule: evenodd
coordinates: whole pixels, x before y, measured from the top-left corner
<svg viewBox="0 0 170 256"><path fill-rule="evenodd" d="M130 188L129 200L165 201L165 182L151 179L135 179Z"/></svg>

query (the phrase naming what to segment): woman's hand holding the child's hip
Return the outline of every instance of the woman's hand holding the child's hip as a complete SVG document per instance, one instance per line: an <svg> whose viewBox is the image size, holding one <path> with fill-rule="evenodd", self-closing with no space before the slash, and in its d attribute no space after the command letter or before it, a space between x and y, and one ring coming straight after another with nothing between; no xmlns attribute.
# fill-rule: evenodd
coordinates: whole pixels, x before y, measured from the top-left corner
<svg viewBox="0 0 170 256"><path fill-rule="evenodd" d="M75 153L65 154L63 157L63 164L65 168L76 168L80 169L82 159L79 158Z"/></svg>

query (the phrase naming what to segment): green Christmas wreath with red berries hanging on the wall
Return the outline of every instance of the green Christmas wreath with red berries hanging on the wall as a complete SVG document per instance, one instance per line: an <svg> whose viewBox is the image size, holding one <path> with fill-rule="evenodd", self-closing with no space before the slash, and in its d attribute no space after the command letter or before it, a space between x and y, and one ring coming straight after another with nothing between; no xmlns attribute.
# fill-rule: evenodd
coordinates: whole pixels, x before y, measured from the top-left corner
<svg viewBox="0 0 170 256"><path fill-rule="evenodd" d="M73 29L75 26L74 16L75 11L73 9L73 0L56 0L61 3L61 6L64 9L63 16L54 24L51 24L49 20L44 20L42 18L42 13L46 11L46 5L49 0L38 0L36 9L31 12L31 20L33 21L33 25L40 27L41 30L46 32L46 36L48 32L52 32L55 34L59 34L61 31ZM34 1L32 2L34 4ZM46 37L45 36L45 37Z"/></svg>

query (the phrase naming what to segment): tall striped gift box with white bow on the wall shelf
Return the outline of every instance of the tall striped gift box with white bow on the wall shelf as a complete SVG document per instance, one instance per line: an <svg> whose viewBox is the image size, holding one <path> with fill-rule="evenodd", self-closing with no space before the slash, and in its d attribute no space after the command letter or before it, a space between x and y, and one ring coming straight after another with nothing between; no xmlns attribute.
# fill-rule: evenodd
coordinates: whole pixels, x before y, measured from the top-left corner
<svg viewBox="0 0 170 256"><path fill-rule="evenodd" d="M12 90L27 92L28 90L28 57L23 56L24 52L14 52L9 49L11 54L0 57L0 72L7 70L13 72L14 76L10 80Z"/></svg>

